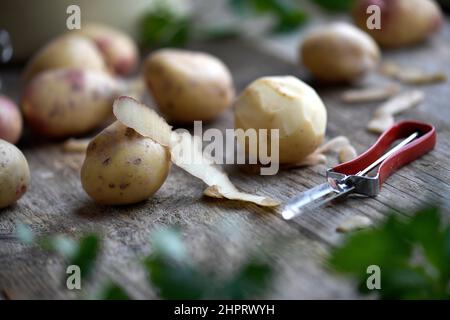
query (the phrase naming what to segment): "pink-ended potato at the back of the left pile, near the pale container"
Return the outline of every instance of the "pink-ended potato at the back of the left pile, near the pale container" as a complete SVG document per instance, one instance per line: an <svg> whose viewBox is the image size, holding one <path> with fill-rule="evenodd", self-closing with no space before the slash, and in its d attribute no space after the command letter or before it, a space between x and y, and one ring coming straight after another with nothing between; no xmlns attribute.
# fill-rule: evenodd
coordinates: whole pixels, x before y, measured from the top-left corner
<svg viewBox="0 0 450 320"><path fill-rule="evenodd" d="M136 67L138 49L127 34L100 24L86 24L75 32L95 43L106 65L115 74L126 75Z"/></svg>

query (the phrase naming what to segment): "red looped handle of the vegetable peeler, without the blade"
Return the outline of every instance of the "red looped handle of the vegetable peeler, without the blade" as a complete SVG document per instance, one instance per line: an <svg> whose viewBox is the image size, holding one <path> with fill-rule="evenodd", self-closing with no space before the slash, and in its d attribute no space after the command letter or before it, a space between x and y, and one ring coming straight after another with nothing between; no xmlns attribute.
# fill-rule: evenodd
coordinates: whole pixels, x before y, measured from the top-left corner
<svg viewBox="0 0 450 320"><path fill-rule="evenodd" d="M420 133L417 139L392 154L379 166L378 174L381 186L396 170L434 149L436 129L432 125L417 121L398 122L386 130L369 150L349 162L337 165L333 171L345 175L356 175L383 156L396 140L405 139L415 132Z"/></svg>

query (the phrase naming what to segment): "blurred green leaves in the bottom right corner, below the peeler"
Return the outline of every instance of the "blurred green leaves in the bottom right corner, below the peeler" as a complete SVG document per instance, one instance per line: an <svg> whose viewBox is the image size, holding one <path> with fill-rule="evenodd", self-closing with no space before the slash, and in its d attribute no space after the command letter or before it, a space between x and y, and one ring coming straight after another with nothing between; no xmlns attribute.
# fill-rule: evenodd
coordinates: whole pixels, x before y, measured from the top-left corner
<svg viewBox="0 0 450 320"><path fill-rule="evenodd" d="M367 267L381 269L382 299L450 299L450 226L436 207L401 220L395 214L376 229L352 234L333 250L332 269L348 274L367 288Z"/></svg>

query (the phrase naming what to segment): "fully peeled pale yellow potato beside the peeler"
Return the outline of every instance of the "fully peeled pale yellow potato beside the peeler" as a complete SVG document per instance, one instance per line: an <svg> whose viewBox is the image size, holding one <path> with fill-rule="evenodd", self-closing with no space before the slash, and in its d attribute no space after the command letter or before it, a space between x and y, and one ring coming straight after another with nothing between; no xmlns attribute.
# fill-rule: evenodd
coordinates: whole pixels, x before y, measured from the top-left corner
<svg viewBox="0 0 450 320"><path fill-rule="evenodd" d="M235 102L236 129L279 129L280 163L296 163L313 153L323 141L326 123L320 97L292 76L259 78ZM245 147L247 155L257 156Z"/></svg>

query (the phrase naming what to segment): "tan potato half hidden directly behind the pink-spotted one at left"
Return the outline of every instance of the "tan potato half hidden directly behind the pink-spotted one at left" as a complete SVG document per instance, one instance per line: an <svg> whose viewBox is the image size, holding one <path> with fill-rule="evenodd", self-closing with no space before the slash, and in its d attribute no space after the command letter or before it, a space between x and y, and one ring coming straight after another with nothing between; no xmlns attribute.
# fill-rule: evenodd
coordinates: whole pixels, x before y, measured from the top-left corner
<svg viewBox="0 0 450 320"><path fill-rule="evenodd" d="M81 36L63 35L43 47L25 68L24 80L30 81L42 71L60 68L107 71L95 44Z"/></svg>

